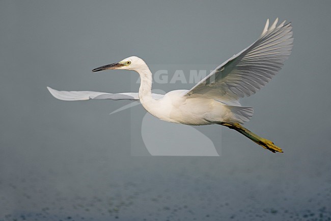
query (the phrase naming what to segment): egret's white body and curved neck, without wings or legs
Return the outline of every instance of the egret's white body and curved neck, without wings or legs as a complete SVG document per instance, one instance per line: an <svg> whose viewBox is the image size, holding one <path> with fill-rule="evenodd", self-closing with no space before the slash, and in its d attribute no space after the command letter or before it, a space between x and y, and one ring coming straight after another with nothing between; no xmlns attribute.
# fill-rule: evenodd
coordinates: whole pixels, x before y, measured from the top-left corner
<svg viewBox="0 0 331 221"><path fill-rule="evenodd" d="M130 57L129 60L141 63L141 68L137 70L141 78L139 100L146 111L153 116L184 125L211 125L224 121L242 122L231 111L231 106L213 97L185 96L189 90L173 90L159 100L153 99L152 72L142 59Z"/></svg>

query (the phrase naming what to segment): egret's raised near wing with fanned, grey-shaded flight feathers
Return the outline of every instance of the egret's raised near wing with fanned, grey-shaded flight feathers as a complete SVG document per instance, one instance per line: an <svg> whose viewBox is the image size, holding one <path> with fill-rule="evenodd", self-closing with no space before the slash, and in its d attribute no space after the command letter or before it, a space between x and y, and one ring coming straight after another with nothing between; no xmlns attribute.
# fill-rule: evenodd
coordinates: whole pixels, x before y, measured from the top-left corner
<svg viewBox="0 0 331 221"><path fill-rule="evenodd" d="M238 100L261 89L282 68L293 47L291 23L278 18L249 47L219 65L184 96L195 95Z"/></svg>

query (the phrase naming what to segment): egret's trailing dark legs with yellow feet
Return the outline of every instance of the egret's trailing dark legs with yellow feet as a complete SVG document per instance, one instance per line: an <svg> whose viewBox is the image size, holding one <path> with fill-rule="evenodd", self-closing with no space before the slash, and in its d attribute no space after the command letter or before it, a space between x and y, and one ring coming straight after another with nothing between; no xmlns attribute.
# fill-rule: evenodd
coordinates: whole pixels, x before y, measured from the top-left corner
<svg viewBox="0 0 331 221"><path fill-rule="evenodd" d="M276 153L276 152L283 153L283 150L281 148L279 148L278 146L274 145L272 141L270 141L268 139L264 139L264 138L256 135L255 133L247 130L246 128L242 127L238 123L223 122L223 123L221 123L219 125L223 125L223 126L226 126L226 127L230 128L230 129L233 129L233 130L238 131L242 135L250 138L251 140L253 140L257 144L259 144L260 146L262 146L264 149L267 149L267 150L269 150L269 151L271 151L273 153Z"/></svg>

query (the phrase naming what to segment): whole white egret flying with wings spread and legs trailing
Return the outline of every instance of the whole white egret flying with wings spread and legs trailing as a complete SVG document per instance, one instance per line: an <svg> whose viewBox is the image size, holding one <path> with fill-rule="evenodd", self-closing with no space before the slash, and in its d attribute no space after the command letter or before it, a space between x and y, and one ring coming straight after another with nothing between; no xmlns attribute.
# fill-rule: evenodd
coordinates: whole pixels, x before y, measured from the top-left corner
<svg viewBox="0 0 331 221"><path fill-rule="evenodd" d="M291 54L293 33L291 23L269 27L267 20L261 36L250 46L216 67L190 90L173 90L164 95L152 93L152 72L141 58L132 56L117 63L93 69L134 70L140 75L139 93L104 93L94 91L58 91L47 87L57 99L139 100L153 116L184 125L218 124L234 129L273 153L283 152L268 139L242 126L253 115L252 107L242 107L239 99L261 89L282 68Z"/></svg>

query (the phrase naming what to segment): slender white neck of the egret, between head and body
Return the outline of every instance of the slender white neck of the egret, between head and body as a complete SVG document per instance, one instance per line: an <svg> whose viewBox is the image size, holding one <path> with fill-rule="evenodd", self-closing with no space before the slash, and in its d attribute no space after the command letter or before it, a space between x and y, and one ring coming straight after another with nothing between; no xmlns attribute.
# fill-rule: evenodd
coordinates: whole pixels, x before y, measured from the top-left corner
<svg viewBox="0 0 331 221"><path fill-rule="evenodd" d="M139 100L143 107L151 113L153 107L155 107L154 105L157 105L157 101L152 97L152 72L146 64L136 71L139 73L141 79L139 88Z"/></svg>

